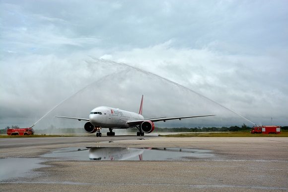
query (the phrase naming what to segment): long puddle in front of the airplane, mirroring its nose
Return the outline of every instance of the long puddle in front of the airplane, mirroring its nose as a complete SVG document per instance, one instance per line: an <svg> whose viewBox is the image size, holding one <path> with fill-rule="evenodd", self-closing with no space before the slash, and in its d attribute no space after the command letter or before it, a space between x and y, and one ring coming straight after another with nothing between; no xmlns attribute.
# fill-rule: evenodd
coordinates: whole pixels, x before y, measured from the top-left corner
<svg viewBox="0 0 288 192"><path fill-rule="evenodd" d="M121 148L91 147L62 148L42 155L45 158L70 159L78 161L173 161L189 159L217 159L211 150L189 148Z"/></svg>

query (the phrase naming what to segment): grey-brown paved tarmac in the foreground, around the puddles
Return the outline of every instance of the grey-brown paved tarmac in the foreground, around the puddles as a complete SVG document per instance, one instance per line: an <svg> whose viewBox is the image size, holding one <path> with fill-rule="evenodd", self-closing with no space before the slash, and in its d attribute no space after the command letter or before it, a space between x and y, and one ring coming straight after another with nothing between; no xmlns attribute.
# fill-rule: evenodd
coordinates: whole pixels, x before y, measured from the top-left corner
<svg viewBox="0 0 288 192"><path fill-rule="evenodd" d="M214 156L169 161L43 157L67 147L180 147ZM288 191L288 138L283 137L9 138L0 139L0 152L11 162L40 161L26 175L0 180L0 191Z"/></svg>

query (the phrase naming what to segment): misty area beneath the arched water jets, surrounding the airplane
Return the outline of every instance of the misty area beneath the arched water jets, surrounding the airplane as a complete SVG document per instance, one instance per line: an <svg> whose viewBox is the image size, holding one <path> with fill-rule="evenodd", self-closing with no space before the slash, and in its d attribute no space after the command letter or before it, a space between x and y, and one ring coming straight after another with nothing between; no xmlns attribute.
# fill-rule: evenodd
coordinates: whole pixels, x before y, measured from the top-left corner
<svg viewBox="0 0 288 192"><path fill-rule="evenodd" d="M144 116L146 118L159 115L217 115L212 118L159 122L157 125L160 127L207 127L243 124L241 119L231 113L255 124L213 99L154 73L124 63L93 57L85 62L99 66L101 69L104 66L105 70L101 70L101 72L105 75L99 74L101 77L62 100L34 125L45 119L41 123L42 126L51 125L53 121L57 127L83 127L82 121L55 119L54 116L87 118L88 113L94 107L101 105L138 112L142 95L144 95Z"/></svg>

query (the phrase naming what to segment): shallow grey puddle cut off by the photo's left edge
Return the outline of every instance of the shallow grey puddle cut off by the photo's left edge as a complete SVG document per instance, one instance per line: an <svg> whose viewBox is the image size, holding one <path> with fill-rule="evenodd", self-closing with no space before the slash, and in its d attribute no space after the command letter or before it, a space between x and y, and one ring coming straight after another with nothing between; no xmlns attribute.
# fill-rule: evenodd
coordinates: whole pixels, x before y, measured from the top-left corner
<svg viewBox="0 0 288 192"><path fill-rule="evenodd" d="M47 167L41 165L44 162L35 158L5 158L0 159L0 180L16 177L29 177L34 175L32 169Z"/></svg>

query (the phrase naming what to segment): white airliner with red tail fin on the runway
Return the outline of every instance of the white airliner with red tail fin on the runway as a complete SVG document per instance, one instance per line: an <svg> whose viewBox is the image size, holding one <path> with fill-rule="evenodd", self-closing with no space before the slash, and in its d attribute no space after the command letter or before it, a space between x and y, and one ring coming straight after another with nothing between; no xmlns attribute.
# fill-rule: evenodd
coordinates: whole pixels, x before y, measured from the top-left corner
<svg viewBox="0 0 288 192"><path fill-rule="evenodd" d="M137 136L144 136L144 133L151 133L154 130L154 122L172 120L172 119L184 119L194 117L207 117L215 115L199 115L199 116L182 116L182 117L155 117L155 118L144 118L142 116L143 109L143 95L141 99L139 113L121 110L119 108L112 108L108 106L98 106L94 108L89 118L78 118L78 117L66 117L66 116L55 116L59 118L77 119L79 121L88 121L84 125L84 129L87 133L96 133L97 137L102 137L100 132L101 128L109 128L107 136L114 136L115 132L113 129L127 129L136 127L139 132Z"/></svg>

